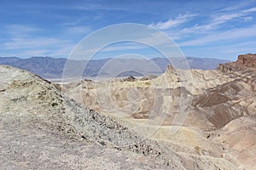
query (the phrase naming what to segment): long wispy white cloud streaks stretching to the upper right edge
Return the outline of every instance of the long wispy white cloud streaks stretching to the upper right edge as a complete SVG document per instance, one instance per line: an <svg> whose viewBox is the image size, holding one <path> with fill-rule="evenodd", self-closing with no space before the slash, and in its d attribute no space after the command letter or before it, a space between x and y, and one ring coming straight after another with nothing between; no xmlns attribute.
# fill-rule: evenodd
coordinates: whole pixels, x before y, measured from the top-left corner
<svg viewBox="0 0 256 170"><path fill-rule="evenodd" d="M216 11L210 17L205 16L206 21L203 24L195 24L194 26L189 26L187 22L190 20L195 21L197 17L204 16L201 14L179 14L175 19L170 19L166 22L160 21L149 26L172 32L171 34L172 37L175 37L174 39L180 39L189 34L203 35L221 29L225 24L236 20L239 22L253 20L251 14L256 12L256 8L239 9L241 7L244 7L244 5L237 5ZM179 29L174 30L177 26L179 26Z"/></svg>

